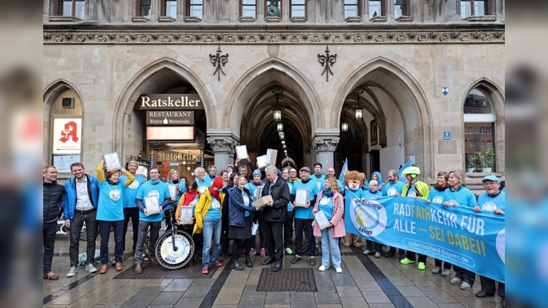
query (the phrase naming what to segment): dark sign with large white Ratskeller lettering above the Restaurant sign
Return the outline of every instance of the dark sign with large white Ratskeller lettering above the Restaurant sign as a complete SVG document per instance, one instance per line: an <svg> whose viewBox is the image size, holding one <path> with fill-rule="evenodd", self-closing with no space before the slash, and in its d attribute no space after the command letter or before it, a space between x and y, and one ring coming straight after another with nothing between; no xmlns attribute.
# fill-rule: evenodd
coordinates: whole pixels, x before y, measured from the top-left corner
<svg viewBox="0 0 548 308"><path fill-rule="evenodd" d="M137 110L203 110L198 94L141 94Z"/></svg>

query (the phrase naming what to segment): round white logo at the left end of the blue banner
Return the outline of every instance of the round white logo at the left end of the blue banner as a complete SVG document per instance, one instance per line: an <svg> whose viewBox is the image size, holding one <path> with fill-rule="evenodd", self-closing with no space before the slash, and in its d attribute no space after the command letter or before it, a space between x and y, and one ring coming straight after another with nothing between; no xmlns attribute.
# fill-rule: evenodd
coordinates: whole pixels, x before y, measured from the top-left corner
<svg viewBox="0 0 548 308"><path fill-rule="evenodd" d="M351 202L350 210L354 227L363 235L379 235L386 228L386 209L377 201L361 201L356 198Z"/></svg>

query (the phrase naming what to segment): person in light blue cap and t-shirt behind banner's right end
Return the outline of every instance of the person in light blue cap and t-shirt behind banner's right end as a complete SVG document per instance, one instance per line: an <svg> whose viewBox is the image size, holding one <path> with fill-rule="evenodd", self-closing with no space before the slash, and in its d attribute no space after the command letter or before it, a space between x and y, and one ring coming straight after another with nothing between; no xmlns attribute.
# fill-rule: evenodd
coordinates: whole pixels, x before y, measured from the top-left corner
<svg viewBox="0 0 548 308"><path fill-rule="evenodd" d="M496 215L504 215L506 209L506 194L500 190L500 180L495 175L488 175L482 179L484 183L484 194L480 195L477 199L477 205L474 207L474 211L490 211ZM495 287L495 280L479 275L479 282L482 283L482 290L477 292L475 296L484 298L487 296L495 296L497 287ZM505 298L506 285L499 282L498 294L501 298Z"/></svg>

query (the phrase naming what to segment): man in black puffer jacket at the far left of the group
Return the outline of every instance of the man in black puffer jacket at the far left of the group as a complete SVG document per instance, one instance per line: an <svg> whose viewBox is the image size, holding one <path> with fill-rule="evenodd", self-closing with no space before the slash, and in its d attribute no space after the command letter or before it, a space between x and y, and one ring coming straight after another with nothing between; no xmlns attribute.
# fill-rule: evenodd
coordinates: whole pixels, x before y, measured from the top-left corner
<svg viewBox="0 0 548 308"><path fill-rule="evenodd" d="M51 272L51 260L57 233L57 216L64 197L64 187L57 183L57 169L54 166L44 167L44 279L57 280L59 277Z"/></svg>

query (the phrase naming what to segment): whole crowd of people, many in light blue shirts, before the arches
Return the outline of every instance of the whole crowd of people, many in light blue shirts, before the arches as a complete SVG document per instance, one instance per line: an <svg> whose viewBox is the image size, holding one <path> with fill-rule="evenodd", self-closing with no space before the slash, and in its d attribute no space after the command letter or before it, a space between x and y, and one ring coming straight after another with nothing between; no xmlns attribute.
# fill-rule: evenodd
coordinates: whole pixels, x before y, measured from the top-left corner
<svg viewBox="0 0 548 308"><path fill-rule="evenodd" d="M138 163L129 162L128 170L105 172L103 162L97 166L97 178L85 174L81 163L71 165L74 177L64 184L64 187L56 183L57 172L55 167L44 168L44 279L58 279L51 272L51 257L53 256L53 241L56 231L56 215L58 208L64 210L66 226L71 231L71 246L69 255L71 269L67 277L74 276L78 271L79 233L82 224L86 223L88 231L86 270L97 271L92 265L95 253L95 235L97 229L101 235L101 269L100 273L108 270L108 238L110 230L114 229L114 266L116 270L122 270L122 253L125 248L125 234L127 224L132 220L134 226L133 249L135 259L135 272L142 272L143 245L147 233L150 233L149 253L153 254L153 245L159 237L164 211L173 209L173 214L166 215L168 228L171 224L171 216L175 218L177 227L192 231L195 240L196 254L193 259L197 262L201 258L201 272L208 274L210 266L222 266L219 255L223 259L229 258L229 243L232 240L231 267L234 270L243 270L238 262L238 257L245 257L245 265L253 266L250 257L260 251L261 257L267 257L262 265L275 264L273 271L282 269L284 252L292 255L292 238L295 234L295 255L291 263L296 264L303 259L303 254L308 251L310 266L316 265L316 240L321 238L322 260L319 270L329 268L330 259L336 272L342 272L339 240L341 244L349 246L362 246L364 255L375 251L375 257L380 257L383 244L361 239L357 235L345 232L344 209L345 202L351 198L371 200L382 196L408 196L423 198L428 203L440 203L447 207L470 207L473 211L491 209L484 207L486 203L495 204L496 209L491 210L495 215L504 214L504 192L500 189L500 181L490 175L484 177L482 183L486 192L476 199L475 194L466 188L466 179L463 172L455 170L438 173L436 185L429 185L419 180L421 170L417 167L408 167L402 175L406 177L406 183L399 179L395 170L388 172L388 181L382 181L379 172L373 172L371 180L367 181L365 175L356 171L348 171L345 183L334 176L335 170L327 168L327 175L322 171L322 165L316 163L314 172L304 166L299 169L288 167L283 170L275 166L266 166L265 178L256 169L252 162L249 172L245 164L239 164L236 159L234 166L227 166L219 176L216 175L215 166L208 166L208 172L204 168L195 169L195 179L187 181L179 179L175 169L169 172L167 183L177 187L177 200L171 200L167 183L160 181L160 171L152 168L150 179L145 181L135 174ZM251 175L248 175L251 173ZM127 189L129 188L129 189ZM309 198L304 205L295 205L297 190L308 190ZM266 205L253 206L253 201L262 196L271 196L272 201ZM143 198L155 196L158 198L161 212L148 214ZM345 198L345 196L349 196ZM182 207L193 208L192 222L182 224L179 215ZM323 212L329 221L329 227L321 229L314 217ZM169 211L171 213L172 211ZM293 229L295 226L295 229ZM149 232L150 231L150 232ZM295 231L295 232L294 232ZM256 232L260 235L260 249L256 249ZM53 235L52 235L53 233ZM303 237L304 233L304 237ZM303 239L304 238L304 239ZM53 239L53 240L52 240ZM362 242L365 240L365 244ZM396 254L395 247L389 247L384 251L386 257ZM412 251L399 251L400 263L403 265L418 262L419 270L426 268L426 255ZM153 255L149 255L151 264L157 261ZM469 290L474 281L475 274L449 262L435 259L433 274L441 274L450 277L451 268L456 276L451 283L460 285L462 290ZM486 277L480 277L482 290L476 296L493 296L497 290L495 281ZM499 283L499 295L504 297L504 284Z"/></svg>

